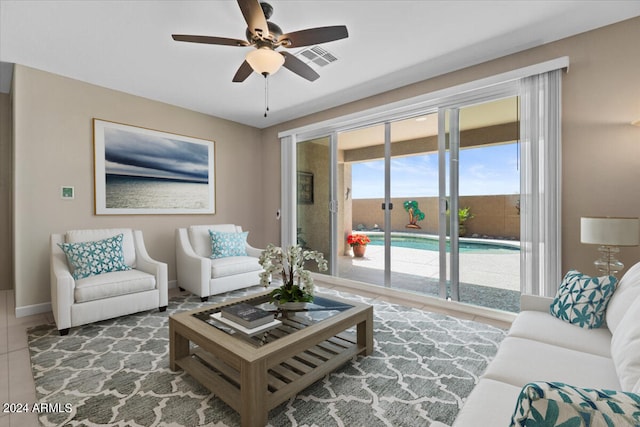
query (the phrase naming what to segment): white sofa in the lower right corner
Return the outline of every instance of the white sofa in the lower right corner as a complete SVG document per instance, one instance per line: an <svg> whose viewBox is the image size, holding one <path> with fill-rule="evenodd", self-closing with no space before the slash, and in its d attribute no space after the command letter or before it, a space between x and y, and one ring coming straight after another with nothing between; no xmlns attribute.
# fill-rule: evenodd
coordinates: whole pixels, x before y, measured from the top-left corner
<svg viewBox="0 0 640 427"><path fill-rule="evenodd" d="M521 390L532 382L639 393L639 295L640 263L619 281L607 307L606 324L598 329L583 329L550 315L552 298L523 295L521 312L453 426L508 426ZM549 392L546 384L541 387ZM640 396L633 399L640 402ZM558 401L563 408L562 399Z"/></svg>

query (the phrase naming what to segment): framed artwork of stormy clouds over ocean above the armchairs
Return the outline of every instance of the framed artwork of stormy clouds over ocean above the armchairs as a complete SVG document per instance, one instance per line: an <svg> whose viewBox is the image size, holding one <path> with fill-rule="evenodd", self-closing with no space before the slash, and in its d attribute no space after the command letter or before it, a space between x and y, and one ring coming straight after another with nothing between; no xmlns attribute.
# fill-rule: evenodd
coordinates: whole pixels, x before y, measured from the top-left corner
<svg viewBox="0 0 640 427"><path fill-rule="evenodd" d="M96 215L215 213L215 143L93 119Z"/></svg>

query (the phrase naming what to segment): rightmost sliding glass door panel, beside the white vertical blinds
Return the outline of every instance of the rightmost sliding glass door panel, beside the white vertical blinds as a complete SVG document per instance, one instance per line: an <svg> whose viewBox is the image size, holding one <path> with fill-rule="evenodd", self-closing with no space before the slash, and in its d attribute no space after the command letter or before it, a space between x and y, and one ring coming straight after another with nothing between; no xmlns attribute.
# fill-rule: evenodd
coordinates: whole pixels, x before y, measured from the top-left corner
<svg viewBox="0 0 640 427"><path fill-rule="evenodd" d="M440 230L445 296L506 311L520 299L519 97L443 108Z"/></svg>

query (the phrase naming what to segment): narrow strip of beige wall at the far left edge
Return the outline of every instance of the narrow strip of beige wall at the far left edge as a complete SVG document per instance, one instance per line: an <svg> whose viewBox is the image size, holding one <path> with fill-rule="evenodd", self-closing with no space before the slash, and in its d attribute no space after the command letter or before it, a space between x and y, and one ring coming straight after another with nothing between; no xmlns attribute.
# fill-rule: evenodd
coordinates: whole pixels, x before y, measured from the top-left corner
<svg viewBox="0 0 640 427"><path fill-rule="evenodd" d="M13 288L11 99L0 93L0 290Z"/></svg>

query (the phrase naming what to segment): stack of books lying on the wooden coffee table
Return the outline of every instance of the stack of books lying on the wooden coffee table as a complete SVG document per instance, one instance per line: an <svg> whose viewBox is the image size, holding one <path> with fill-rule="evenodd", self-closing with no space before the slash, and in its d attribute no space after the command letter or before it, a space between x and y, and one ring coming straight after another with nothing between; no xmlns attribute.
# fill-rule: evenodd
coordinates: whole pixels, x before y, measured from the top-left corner
<svg viewBox="0 0 640 427"><path fill-rule="evenodd" d="M247 335L268 331L282 324L274 318L273 313L247 303L222 307L219 313L211 317Z"/></svg>

